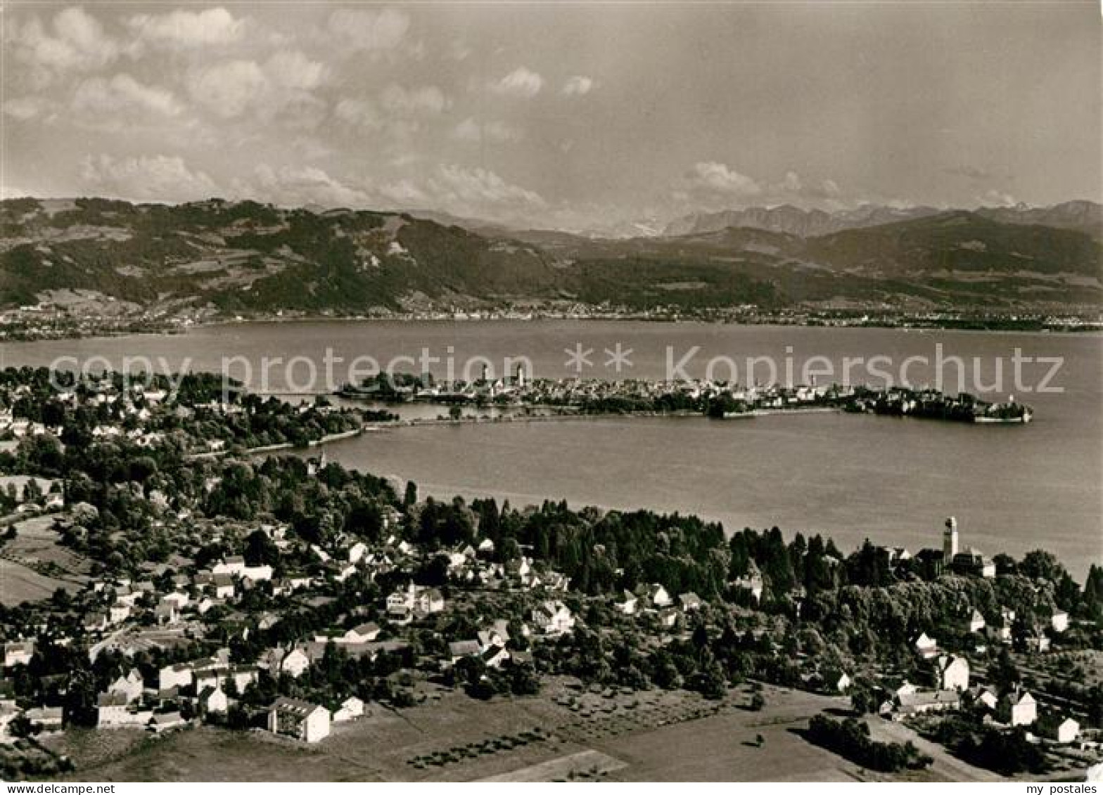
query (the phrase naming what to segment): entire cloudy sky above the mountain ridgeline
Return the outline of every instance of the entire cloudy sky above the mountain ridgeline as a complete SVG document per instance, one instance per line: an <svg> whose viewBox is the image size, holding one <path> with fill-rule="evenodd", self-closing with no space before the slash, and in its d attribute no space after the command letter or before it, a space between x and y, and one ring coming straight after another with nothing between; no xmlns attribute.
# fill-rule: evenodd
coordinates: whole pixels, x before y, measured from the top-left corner
<svg viewBox="0 0 1103 795"><path fill-rule="evenodd" d="M4 196L564 229L1100 201L1092 2L0 2Z"/></svg>

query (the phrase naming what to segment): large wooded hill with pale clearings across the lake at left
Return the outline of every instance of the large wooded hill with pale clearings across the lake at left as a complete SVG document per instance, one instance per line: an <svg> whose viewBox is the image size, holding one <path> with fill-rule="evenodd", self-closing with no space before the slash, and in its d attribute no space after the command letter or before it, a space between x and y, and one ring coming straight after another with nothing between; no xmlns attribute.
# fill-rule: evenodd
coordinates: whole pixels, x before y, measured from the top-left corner
<svg viewBox="0 0 1103 795"><path fill-rule="evenodd" d="M84 289L143 307L364 312L540 296L556 281L536 248L392 213L18 200L0 224L8 305Z"/></svg>

